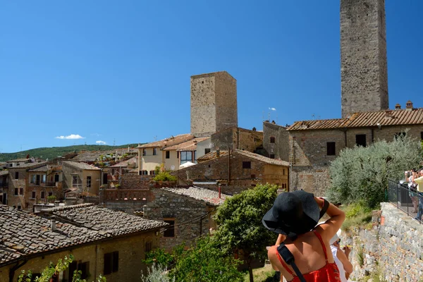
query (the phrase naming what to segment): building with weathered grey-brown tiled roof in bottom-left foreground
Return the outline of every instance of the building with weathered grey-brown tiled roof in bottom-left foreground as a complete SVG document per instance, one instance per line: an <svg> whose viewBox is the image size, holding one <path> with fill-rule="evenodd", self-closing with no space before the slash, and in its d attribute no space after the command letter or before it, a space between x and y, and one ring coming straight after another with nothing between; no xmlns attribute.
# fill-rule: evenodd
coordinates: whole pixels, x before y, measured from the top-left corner
<svg viewBox="0 0 423 282"><path fill-rule="evenodd" d="M73 271L93 281L140 281L145 253L159 247L163 221L142 219L90 204L54 207L43 216L0 204L0 282L17 281L20 271L39 274L68 255L75 257L58 281L71 282Z"/></svg>

